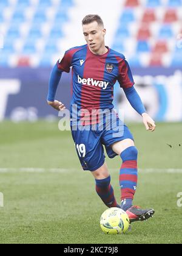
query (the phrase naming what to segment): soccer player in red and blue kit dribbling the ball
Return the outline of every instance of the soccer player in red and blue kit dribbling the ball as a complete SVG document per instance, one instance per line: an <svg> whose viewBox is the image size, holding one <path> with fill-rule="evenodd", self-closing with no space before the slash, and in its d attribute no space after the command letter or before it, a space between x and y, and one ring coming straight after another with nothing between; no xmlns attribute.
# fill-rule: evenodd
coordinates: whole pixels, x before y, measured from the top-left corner
<svg viewBox="0 0 182 256"><path fill-rule="evenodd" d="M122 208L130 222L143 221L155 211L132 204L137 186L138 151L129 128L113 111L116 80L132 107L142 116L146 130L155 130L155 122L146 113L133 86L132 73L124 55L105 46L103 20L98 15L87 15L82 26L87 44L69 49L58 60L50 75L47 102L56 110L65 109L62 102L55 100L55 94L62 72L69 73L72 66L70 126L79 161L84 170L92 173L96 193L107 207ZM100 115L102 111L106 114L104 118ZM117 204L110 184L103 145L110 158L119 155L123 162L120 168L121 205Z"/></svg>

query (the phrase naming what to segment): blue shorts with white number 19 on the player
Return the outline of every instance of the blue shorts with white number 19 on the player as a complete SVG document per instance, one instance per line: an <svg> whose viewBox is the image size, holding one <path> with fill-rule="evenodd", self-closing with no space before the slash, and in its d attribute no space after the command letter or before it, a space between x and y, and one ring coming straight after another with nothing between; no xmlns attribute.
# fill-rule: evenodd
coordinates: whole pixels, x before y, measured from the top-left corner
<svg viewBox="0 0 182 256"><path fill-rule="evenodd" d="M100 129L100 124L96 124L95 129L89 125L77 130L71 126L71 130L81 166L84 170L89 171L95 171L104 164L103 145L108 157L113 158L117 154L112 151L110 145L127 138L133 140L132 133L125 124L121 123L119 118L112 129L107 129L107 127Z"/></svg>

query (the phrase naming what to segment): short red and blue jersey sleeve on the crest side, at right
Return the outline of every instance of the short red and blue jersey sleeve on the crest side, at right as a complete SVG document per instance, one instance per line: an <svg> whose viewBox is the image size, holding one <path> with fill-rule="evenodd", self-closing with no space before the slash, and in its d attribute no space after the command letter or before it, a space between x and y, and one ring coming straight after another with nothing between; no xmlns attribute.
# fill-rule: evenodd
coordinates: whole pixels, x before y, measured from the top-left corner
<svg viewBox="0 0 182 256"><path fill-rule="evenodd" d="M125 59L120 61L118 69L118 82L120 83L120 87L122 87L123 89L132 87L135 82L133 80L129 64Z"/></svg>

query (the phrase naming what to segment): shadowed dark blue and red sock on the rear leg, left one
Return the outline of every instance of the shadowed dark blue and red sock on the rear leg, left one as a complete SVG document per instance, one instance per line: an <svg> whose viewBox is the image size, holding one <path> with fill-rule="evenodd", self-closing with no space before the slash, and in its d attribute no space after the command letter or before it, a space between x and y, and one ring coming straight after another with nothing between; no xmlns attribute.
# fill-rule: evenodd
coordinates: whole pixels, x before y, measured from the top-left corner
<svg viewBox="0 0 182 256"><path fill-rule="evenodd" d="M99 197L101 197L102 201L107 205L107 207L121 208L116 202L112 185L110 185L110 176L102 180L95 179L95 183L96 193Z"/></svg>

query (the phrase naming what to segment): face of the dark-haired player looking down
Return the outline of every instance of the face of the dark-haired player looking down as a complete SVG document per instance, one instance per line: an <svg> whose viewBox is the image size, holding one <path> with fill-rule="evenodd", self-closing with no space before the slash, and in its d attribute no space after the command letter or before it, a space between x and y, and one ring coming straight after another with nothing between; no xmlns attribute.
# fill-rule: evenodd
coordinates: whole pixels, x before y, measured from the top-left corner
<svg viewBox="0 0 182 256"><path fill-rule="evenodd" d="M105 47L104 37L106 35L106 29L100 26L96 21L83 25L83 34L92 52L96 53L99 49Z"/></svg>

